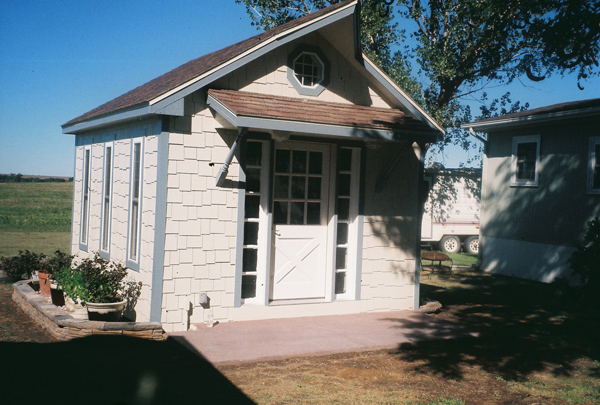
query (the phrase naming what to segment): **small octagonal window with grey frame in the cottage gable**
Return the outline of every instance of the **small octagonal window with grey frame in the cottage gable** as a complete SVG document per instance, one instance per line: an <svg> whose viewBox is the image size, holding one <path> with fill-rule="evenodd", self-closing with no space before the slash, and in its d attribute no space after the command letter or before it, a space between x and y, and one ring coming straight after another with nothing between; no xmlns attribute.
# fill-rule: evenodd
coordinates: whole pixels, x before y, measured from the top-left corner
<svg viewBox="0 0 600 405"><path fill-rule="evenodd" d="M329 62L318 48L301 46L288 58L288 80L299 94L318 96L329 82Z"/></svg>

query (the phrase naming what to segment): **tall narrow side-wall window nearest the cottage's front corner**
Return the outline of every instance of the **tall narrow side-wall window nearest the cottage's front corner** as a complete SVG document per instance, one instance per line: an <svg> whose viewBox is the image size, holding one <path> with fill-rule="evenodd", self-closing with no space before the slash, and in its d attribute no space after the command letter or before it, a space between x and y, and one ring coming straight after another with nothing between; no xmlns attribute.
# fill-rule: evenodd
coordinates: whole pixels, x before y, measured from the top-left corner
<svg viewBox="0 0 600 405"><path fill-rule="evenodd" d="M139 262L140 204L142 180L142 142L134 141L131 153L131 189L129 207L129 253L127 258Z"/></svg>

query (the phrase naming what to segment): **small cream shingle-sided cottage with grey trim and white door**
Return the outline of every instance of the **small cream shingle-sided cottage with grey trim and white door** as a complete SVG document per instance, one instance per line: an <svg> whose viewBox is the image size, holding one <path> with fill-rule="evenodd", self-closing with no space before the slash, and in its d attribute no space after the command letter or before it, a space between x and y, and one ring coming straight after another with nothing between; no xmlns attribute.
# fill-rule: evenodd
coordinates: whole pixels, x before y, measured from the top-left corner
<svg viewBox="0 0 600 405"><path fill-rule="evenodd" d="M443 130L359 38L357 1L339 3L63 125L72 252L127 263L137 319L418 306L422 161Z"/></svg>

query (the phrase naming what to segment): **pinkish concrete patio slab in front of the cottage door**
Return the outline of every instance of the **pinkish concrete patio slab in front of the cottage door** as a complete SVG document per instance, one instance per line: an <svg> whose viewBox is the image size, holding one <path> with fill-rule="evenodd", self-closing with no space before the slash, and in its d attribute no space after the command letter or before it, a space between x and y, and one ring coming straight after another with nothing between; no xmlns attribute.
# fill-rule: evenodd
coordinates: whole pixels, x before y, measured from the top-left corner
<svg viewBox="0 0 600 405"><path fill-rule="evenodd" d="M478 336L420 311L197 324L168 337L213 364L234 364L342 352L395 349L403 343Z"/></svg>

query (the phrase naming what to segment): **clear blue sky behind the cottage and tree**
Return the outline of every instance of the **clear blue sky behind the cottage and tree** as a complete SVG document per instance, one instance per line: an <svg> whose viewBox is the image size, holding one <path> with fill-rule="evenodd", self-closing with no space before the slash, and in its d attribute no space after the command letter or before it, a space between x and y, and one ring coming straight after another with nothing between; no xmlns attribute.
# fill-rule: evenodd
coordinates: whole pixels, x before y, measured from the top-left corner
<svg viewBox="0 0 600 405"><path fill-rule="evenodd" d="M0 173L72 176L61 124L257 33L234 0L0 2ZM509 90L530 108L600 97L598 78L585 91L575 77L524 84ZM462 159L449 151L444 163Z"/></svg>

